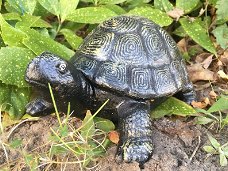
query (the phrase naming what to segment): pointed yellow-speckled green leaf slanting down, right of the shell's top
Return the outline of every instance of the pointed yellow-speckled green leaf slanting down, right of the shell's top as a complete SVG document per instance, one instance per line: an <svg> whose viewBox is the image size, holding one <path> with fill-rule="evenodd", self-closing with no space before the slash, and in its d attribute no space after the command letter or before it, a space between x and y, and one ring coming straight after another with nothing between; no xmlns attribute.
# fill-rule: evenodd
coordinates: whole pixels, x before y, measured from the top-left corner
<svg viewBox="0 0 228 171"><path fill-rule="evenodd" d="M209 52L216 54L215 47L207 35L206 30L198 23L190 21L188 18L181 18L180 23L185 32L200 46L208 50Z"/></svg>

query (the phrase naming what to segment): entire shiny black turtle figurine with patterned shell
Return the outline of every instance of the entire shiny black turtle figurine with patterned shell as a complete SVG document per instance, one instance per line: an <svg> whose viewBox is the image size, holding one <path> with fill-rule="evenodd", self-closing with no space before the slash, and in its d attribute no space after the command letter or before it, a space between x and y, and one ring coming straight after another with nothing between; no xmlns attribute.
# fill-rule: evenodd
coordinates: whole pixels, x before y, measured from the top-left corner
<svg viewBox="0 0 228 171"><path fill-rule="evenodd" d="M109 99L100 113L118 119L117 158L141 166L154 149L150 110L172 95L188 104L195 100L175 41L139 16L117 16L99 24L69 61L42 53L29 63L25 79L41 91L50 83L61 104L77 104L76 113L96 110ZM53 105L42 95L26 108L39 115L52 111Z"/></svg>

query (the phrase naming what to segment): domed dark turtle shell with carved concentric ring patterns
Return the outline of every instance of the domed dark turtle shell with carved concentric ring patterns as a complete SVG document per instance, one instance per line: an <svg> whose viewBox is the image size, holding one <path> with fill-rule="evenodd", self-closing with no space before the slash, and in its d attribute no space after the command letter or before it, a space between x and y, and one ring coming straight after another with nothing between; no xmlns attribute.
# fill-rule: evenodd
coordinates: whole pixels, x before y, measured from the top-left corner
<svg viewBox="0 0 228 171"><path fill-rule="evenodd" d="M188 83L175 41L157 24L138 16L101 23L71 58L92 83L136 98L172 95Z"/></svg>

